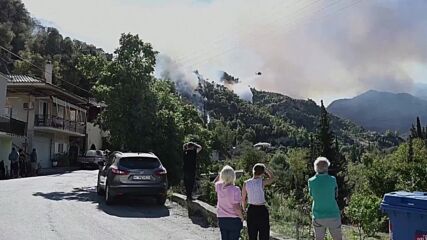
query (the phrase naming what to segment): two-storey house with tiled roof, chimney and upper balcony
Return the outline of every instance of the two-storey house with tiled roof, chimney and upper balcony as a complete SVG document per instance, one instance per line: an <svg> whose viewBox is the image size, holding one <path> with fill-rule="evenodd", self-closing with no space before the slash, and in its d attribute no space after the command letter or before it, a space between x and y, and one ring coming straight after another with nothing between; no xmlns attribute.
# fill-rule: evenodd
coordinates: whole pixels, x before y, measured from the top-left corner
<svg viewBox="0 0 427 240"><path fill-rule="evenodd" d="M87 144L88 99L53 85L50 76L0 75L7 81L7 114L27 123L26 138L12 137L13 144L27 153L36 149L41 168L65 155L70 162L61 164L73 164Z"/></svg>

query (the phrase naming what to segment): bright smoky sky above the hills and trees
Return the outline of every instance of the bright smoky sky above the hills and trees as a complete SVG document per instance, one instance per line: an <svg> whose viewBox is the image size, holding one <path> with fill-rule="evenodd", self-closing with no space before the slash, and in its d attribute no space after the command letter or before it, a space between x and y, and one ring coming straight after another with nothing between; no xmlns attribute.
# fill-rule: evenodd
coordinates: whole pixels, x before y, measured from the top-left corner
<svg viewBox="0 0 427 240"><path fill-rule="evenodd" d="M249 86L326 104L427 83L424 0L23 0L43 24L105 51L123 32L160 52L157 71L195 85L226 71ZM166 59L166 60L165 60ZM261 72L261 75L255 74Z"/></svg>

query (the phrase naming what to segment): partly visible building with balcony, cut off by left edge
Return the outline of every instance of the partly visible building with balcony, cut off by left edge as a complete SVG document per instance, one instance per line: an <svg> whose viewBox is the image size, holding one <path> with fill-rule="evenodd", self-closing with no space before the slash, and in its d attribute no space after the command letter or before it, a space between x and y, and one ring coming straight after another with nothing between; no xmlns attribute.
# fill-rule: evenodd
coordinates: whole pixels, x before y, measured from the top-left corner
<svg viewBox="0 0 427 240"><path fill-rule="evenodd" d="M11 118L6 108L7 79L0 75L0 161L3 161L6 169L10 169L8 160L12 149L12 138L25 141L26 123Z"/></svg>

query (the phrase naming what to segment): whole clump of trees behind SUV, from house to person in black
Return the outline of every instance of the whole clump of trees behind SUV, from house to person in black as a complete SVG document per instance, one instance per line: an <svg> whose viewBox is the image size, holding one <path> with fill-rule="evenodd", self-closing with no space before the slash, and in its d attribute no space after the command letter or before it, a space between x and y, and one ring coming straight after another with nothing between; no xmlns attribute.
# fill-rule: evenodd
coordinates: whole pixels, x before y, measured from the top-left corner
<svg viewBox="0 0 427 240"><path fill-rule="evenodd" d="M84 56L78 68L95 81L93 92L107 107L100 124L114 149L155 152L168 169L171 184L181 179L182 144L191 138L203 146L200 167L209 165L210 132L194 106L184 103L169 81L153 77L157 52L138 35L123 34L115 56Z"/></svg>

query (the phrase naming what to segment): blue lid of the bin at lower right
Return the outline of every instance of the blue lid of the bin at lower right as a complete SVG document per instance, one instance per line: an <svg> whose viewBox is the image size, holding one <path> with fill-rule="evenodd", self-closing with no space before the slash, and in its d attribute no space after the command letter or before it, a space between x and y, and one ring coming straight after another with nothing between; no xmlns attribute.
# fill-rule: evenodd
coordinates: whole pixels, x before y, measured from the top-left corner
<svg viewBox="0 0 427 240"><path fill-rule="evenodd" d="M427 210L427 192L386 193L382 205Z"/></svg>

